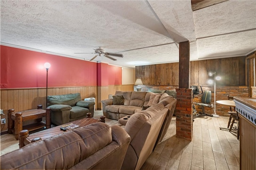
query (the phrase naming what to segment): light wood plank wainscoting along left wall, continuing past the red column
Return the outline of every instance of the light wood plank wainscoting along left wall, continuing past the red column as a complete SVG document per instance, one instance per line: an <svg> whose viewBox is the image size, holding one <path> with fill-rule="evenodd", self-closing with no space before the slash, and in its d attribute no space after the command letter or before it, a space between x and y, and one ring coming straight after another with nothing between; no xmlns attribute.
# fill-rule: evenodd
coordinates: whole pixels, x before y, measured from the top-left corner
<svg viewBox="0 0 256 170"><path fill-rule="evenodd" d="M113 85L113 86L83 86L83 87L57 87L48 88L48 96L62 95L69 93L80 93L82 100L84 98L95 98L95 108L101 109L101 100L107 99L108 94L115 94L116 90L130 91L133 90L131 85ZM100 91L97 90L100 88ZM102 89L101 89L102 88ZM98 98L100 94L100 98ZM46 108L46 88L20 88L20 89L0 89L0 108L4 110L1 118L6 118L6 124L1 125L1 132L7 130L7 113L8 109L15 111L24 111L36 109L37 105L42 104ZM29 123L29 122L28 122Z"/></svg>

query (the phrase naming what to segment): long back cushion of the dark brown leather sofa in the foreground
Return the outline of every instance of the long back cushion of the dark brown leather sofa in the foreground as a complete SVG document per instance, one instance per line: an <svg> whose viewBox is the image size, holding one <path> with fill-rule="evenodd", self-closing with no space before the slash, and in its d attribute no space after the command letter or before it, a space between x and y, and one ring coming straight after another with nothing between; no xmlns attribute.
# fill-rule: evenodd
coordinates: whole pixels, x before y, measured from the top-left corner
<svg viewBox="0 0 256 170"><path fill-rule="evenodd" d="M98 122L7 153L1 169L70 169L110 143L111 127Z"/></svg>

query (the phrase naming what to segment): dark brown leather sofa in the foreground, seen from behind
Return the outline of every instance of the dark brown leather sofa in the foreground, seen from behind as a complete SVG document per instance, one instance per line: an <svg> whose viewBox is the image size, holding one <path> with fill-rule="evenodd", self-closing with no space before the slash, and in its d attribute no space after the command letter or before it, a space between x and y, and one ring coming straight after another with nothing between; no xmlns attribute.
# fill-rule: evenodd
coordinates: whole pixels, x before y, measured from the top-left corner
<svg viewBox="0 0 256 170"><path fill-rule="evenodd" d="M1 169L120 169L129 143L130 136L122 127L98 122L4 154L0 166Z"/></svg>

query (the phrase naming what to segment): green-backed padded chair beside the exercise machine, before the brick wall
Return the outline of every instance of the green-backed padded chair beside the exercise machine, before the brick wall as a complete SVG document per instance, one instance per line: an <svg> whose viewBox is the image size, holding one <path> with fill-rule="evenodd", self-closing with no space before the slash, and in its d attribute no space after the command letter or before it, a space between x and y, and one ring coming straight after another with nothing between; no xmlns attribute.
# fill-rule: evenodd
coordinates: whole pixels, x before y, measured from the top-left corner
<svg viewBox="0 0 256 170"><path fill-rule="evenodd" d="M212 92L205 90L202 94L201 103L196 103L196 105L201 106L201 108L202 108L202 113L197 113L196 117L201 117L201 116L210 116L210 117L212 117L212 115L207 114L207 113L204 112L204 106L205 107L211 107L211 100L212 100Z"/></svg>

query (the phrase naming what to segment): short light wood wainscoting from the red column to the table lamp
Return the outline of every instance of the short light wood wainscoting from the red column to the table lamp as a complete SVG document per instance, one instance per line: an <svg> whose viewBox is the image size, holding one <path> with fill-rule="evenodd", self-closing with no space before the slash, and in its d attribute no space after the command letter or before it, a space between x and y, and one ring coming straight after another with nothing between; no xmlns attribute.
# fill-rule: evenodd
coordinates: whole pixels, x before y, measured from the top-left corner
<svg viewBox="0 0 256 170"><path fill-rule="evenodd" d="M112 86L98 86L98 100L97 101L97 109L101 110L101 101L108 99L108 95L114 95L116 91L133 91L133 84L128 85L112 85Z"/></svg>

